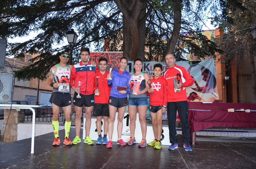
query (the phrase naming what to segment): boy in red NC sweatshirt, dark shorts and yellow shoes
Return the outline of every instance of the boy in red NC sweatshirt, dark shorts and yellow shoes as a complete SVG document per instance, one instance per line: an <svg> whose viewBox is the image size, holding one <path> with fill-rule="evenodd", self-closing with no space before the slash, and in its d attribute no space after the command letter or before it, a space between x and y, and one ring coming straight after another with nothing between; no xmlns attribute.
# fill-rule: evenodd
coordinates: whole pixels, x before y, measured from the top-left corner
<svg viewBox="0 0 256 169"><path fill-rule="evenodd" d="M154 146L154 149L161 149L162 143L160 141L162 134L162 117L166 112L167 105L167 82L161 74L163 66L161 64L154 65L154 76L151 80L151 88L148 89L150 115L152 118L152 127L155 139L148 143Z"/></svg>

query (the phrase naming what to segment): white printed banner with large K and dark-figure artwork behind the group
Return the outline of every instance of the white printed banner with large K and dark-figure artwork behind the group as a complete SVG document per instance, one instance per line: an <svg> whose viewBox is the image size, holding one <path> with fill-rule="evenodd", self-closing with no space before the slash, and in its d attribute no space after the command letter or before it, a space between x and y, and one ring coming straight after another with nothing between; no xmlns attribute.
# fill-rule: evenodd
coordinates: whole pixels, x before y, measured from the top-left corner
<svg viewBox="0 0 256 169"><path fill-rule="evenodd" d="M143 73L153 76L154 64L162 64L163 73L168 69L165 62L143 62ZM194 84L186 88L187 99L190 102L213 102L218 100L216 85L214 59L202 61L177 61L177 66L187 69L188 73L194 79ZM128 61L126 71L133 72L133 62ZM163 75L163 73L161 75Z"/></svg>

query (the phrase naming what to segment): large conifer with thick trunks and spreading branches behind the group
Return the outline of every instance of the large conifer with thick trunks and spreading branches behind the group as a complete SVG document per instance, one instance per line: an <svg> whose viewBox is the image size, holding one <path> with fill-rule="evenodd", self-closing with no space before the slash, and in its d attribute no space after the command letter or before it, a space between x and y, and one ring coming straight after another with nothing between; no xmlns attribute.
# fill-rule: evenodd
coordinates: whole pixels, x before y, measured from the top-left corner
<svg viewBox="0 0 256 169"><path fill-rule="evenodd" d="M49 68L58 62L58 52L69 49L69 45L60 48L56 48L56 45L63 43L65 33L71 28L79 35L74 46L73 64L79 60L81 47L94 44L97 50L103 50L105 38L122 40L123 55L129 60L144 60L145 45L151 47L150 51L158 50L158 60L162 60L166 53L174 53L177 58L181 58L182 49L179 44L187 45L189 52L203 58L217 50L214 43L196 33L201 29L200 22L208 5L215 7L212 2L214 1L6 0L0 4L0 31L4 38L22 37L32 31L37 33L36 37L24 43L8 43L7 56L24 57L24 53L34 54L40 51L40 55L32 60L33 64L16 71L16 77L24 80L46 78ZM190 39L182 37L180 31L190 32ZM120 33L123 35L121 38ZM204 45L195 45L195 40ZM156 60L150 56L148 58Z"/></svg>

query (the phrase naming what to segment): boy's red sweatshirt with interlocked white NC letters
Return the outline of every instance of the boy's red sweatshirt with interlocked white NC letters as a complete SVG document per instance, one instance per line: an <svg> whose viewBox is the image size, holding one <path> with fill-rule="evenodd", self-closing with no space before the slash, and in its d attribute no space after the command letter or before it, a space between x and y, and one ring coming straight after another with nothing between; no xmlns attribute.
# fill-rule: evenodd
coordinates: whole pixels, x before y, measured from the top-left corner
<svg viewBox="0 0 256 169"><path fill-rule="evenodd" d="M148 94L149 104L152 106L167 105L167 82L163 76L151 80L151 88L154 92Z"/></svg>

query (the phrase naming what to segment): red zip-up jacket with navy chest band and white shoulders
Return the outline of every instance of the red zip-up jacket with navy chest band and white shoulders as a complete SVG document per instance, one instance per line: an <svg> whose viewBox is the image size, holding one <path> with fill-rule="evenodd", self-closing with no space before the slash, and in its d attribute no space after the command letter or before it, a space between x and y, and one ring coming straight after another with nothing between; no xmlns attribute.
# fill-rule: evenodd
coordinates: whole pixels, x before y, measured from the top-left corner
<svg viewBox="0 0 256 169"><path fill-rule="evenodd" d="M70 74L70 87L78 87L77 81L81 81L80 93L84 95L94 94L94 74L97 70L99 70L98 67L92 66L90 62L88 62L87 65L83 65L82 61L80 61L79 63L73 65Z"/></svg>

